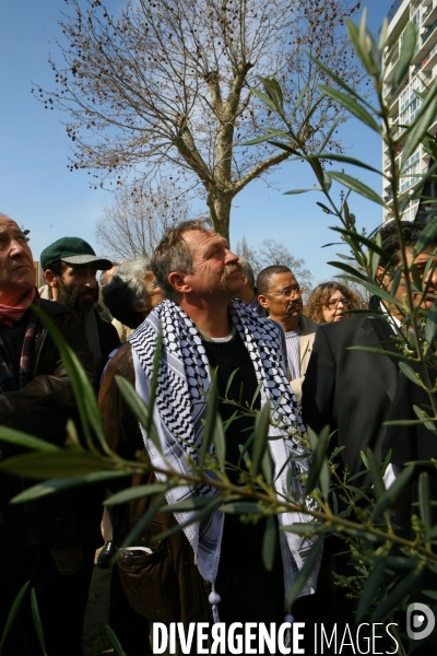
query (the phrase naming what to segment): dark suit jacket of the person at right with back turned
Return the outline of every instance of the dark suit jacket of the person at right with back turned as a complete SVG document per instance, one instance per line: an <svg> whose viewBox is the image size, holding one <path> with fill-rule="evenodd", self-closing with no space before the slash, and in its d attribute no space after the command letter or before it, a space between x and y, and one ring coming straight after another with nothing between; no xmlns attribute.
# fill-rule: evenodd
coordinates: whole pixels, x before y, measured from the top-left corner
<svg viewBox="0 0 437 656"><path fill-rule="evenodd" d="M321 325L316 332L303 385L303 419L316 433L329 424L350 475L363 471L359 453L371 448L381 460L399 370L394 359L350 347L392 350L394 336L382 316L357 314Z"/></svg>

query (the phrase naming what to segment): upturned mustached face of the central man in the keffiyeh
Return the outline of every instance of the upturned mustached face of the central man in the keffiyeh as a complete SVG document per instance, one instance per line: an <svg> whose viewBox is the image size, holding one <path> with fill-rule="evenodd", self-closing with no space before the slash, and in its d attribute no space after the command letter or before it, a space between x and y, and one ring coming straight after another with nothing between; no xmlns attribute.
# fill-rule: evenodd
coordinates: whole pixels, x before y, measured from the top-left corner
<svg viewBox="0 0 437 656"><path fill-rule="evenodd" d="M192 273L184 277L192 292L200 297L231 300L241 291L245 283L238 256L224 237L211 230L191 230L184 239L192 254Z"/></svg>

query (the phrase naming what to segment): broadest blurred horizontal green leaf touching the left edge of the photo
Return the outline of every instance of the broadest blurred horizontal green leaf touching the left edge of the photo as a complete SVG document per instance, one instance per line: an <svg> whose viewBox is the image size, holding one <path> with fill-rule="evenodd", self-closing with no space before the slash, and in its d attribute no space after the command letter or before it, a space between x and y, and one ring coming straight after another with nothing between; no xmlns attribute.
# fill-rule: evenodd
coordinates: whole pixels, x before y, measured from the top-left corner
<svg viewBox="0 0 437 656"><path fill-rule="evenodd" d="M113 462L90 452L61 449L56 453L33 452L0 462L0 469L25 478L74 478L110 469Z"/></svg>

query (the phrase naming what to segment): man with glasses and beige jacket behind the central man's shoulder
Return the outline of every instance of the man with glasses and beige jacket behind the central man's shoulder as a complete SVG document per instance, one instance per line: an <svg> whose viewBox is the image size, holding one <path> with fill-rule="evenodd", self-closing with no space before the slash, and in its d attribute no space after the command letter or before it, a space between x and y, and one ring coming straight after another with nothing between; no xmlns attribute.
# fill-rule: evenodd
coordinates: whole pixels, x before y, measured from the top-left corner
<svg viewBox="0 0 437 656"><path fill-rule="evenodd" d="M303 290L288 267L275 265L263 269L257 279L257 290L258 303L270 319L284 328L291 385L300 402L317 324L304 317Z"/></svg>

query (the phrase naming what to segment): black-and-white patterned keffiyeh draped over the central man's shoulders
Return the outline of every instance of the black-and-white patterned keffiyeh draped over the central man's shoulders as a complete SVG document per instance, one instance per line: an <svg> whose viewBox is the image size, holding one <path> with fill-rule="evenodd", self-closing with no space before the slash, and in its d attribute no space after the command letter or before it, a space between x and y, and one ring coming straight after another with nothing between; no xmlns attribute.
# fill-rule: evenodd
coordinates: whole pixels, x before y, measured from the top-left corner
<svg viewBox="0 0 437 656"><path fill-rule="evenodd" d="M231 302L229 316L237 327L238 335L245 343L253 363L255 373L261 387L261 408L268 399L271 401L272 420L269 446L275 469L275 489L277 492L291 493L295 499L304 497L304 489L299 475L305 472L307 459L291 461L291 456L302 456L303 447L298 440L298 427L304 429L296 399L285 376L286 364L281 348L281 328L270 319L262 319L238 300ZM202 338L196 325L187 314L172 301L161 303L143 324L128 339L132 347L135 371L135 388L140 397L147 403L150 384L153 372L153 358L156 339L163 333L163 348L157 376L156 402L153 420L160 437L165 460L177 471L188 473L190 459L197 460L201 446L205 412L204 393L211 384L211 375ZM277 425L279 424L279 425ZM282 430L281 430L282 429ZM160 452L142 434L152 464L156 468L166 469ZM284 435L287 435L285 438ZM282 438L277 438L282 436ZM292 469L293 476L288 472ZM163 475L156 475L164 480ZM213 475L209 472L209 476ZM211 496L214 488L204 484L180 487L170 490L167 503L175 504L193 496ZM175 514L179 524L186 523L189 513ZM282 513L277 515L280 525L307 523L307 515L300 513ZM201 522L184 528L189 540L200 574L213 583L220 562L220 546L223 535L224 514L215 509ZM302 570L314 541L303 539L294 534L280 531L281 551L284 563L285 593L290 589L298 570ZM302 591L300 596L315 591L318 566Z"/></svg>

